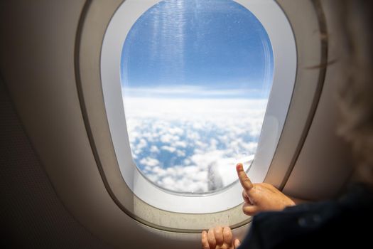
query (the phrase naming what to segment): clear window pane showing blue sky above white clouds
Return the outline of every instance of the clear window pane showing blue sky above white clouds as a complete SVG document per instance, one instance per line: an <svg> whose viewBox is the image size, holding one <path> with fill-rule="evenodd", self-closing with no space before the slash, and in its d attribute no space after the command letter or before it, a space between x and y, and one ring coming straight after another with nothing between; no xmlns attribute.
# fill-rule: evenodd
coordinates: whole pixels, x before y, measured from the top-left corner
<svg viewBox="0 0 373 249"><path fill-rule="evenodd" d="M254 158L274 59L260 21L231 0L160 1L121 55L131 152L163 189L206 193Z"/></svg>

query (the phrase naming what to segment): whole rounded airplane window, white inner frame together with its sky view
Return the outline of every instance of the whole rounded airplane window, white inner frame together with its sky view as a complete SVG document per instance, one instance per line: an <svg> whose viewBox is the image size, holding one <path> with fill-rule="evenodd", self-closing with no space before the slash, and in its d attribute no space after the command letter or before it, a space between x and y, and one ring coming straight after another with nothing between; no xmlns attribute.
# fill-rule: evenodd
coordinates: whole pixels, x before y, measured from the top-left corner
<svg viewBox="0 0 373 249"><path fill-rule="evenodd" d="M276 1L126 0L100 56L121 178L141 201L175 213L233 208L239 161L264 181L296 78Z"/></svg>

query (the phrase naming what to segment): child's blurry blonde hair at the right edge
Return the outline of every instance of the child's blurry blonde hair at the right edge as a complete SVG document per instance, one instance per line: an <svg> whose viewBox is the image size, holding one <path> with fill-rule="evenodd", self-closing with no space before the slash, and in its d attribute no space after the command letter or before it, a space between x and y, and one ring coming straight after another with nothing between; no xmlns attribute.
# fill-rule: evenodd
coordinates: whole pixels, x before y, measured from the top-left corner
<svg viewBox="0 0 373 249"><path fill-rule="evenodd" d="M347 80L340 86L342 124L338 134L352 145L357 174L373 185L373 1L338 1L343 22L348 64ZM341 72L342 73L342 72Z"/></svg>

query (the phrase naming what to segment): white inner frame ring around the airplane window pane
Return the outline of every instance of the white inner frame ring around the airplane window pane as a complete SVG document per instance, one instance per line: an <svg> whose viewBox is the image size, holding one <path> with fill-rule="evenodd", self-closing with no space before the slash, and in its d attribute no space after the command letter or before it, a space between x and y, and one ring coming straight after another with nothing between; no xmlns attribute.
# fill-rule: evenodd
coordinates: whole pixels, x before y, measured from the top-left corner
<svg viewBox="0 0 373 249"><path fill-rule="evenodd" d="M131 156L121 95L121 50L129 30L159 0L124 1L107 27L102 43L101 80L107 120L121 175L136 196L149 205L177 213L215 213L242 203L238 182L213 194L188 196L156 187L137 169ZM249 169L253 182L262 182L274 157L296 79L296 43L286 15L274 0L236 0L261 21L274 54L274 82L267 104L255 159ZM232 169L234 170L234 169Z"/></svg>

